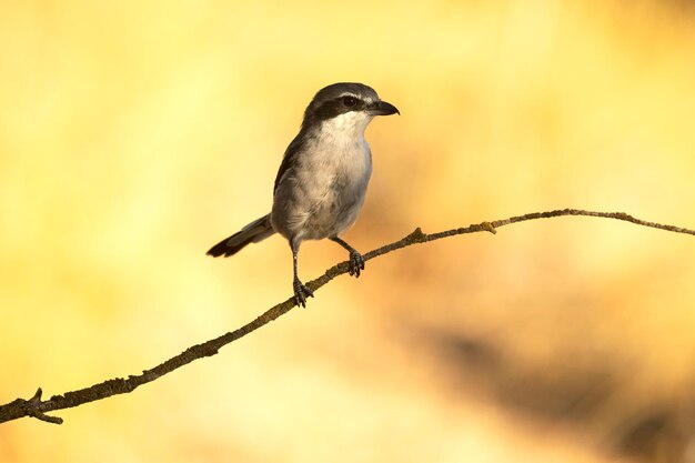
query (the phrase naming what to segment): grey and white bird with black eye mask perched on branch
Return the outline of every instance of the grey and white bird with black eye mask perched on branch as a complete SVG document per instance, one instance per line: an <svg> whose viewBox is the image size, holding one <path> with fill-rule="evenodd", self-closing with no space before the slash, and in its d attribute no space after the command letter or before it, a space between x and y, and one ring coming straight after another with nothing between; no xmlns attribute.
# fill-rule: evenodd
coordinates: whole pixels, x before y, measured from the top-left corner
<svg viewBox="0 0 695 463"><path fill-rule="evenodd" d="M364 131L374 117L390 114L401 112L364 83L338 82L319 90L280 163L271 212L220 241L208 255L234 255L280 233L290 243L294 303L302 308L314 295L299 278L302 242L328 238L340 244L350 255L350 274L359 278L364 258L340 235L357 219L372 174Z"/></svg>

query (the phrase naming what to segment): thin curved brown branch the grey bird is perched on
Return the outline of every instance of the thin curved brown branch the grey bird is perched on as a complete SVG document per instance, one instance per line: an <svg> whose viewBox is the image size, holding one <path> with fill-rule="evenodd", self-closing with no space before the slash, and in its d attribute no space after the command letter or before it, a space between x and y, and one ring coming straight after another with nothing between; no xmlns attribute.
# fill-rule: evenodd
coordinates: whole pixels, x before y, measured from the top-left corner
<svg viewBox="0 0 695 463"><path fill-rule="evenodd" d="M625 222L631 222L636 225L642 227L651 227L654 229L666 230L675 233L684 233L695 235L695 230L684 229L674 225L665 225L662 223L647 222L644 220L635 219L632 215L628 215L624 212L593 212L593 211L583 211L577 209L563 209L550 212L534 212L525 215L512 217L503 220L495 220L492 222L483 222L475 225L470 225L466 228L452 229L446 230L439 233L424 233L420 228L415 229L411 234L403 238L402 240L395 241L391 244L386 244L384 246L377 248L373 251L364 254L364 260L369 261L379 255L386 254L389 252L393 252L395 250L406 248L413 244L424 243L427 241L441 240L443 238L455 236L459 234L466 233L477 233L477 232L490 232L496 233L496 229L508 225L512 223L524 222L527 220L535 219L550 219L554 217L563 217L563 215L585 215L585 217L600 217L605 219L616 219ZM342 275L343 273L348 273L349 264L348 262L339 263L326 270L326 272L319 276L318 279L310 281L306 285L315 292L321 286L333 280L335 276ZM130 375L128 379L117 378L113 380L108 380L99 384L94 384L89 387L81 389L79 391L67 392L62 395L53 395L49 400L41 400L41 389L37 391L37 393L28 400L17 399L10 403L4 405L0 405L0 423L17 420L22 416L33 416L36 419L49 422L61 424L62 419L57 416L49 416L46 413L52 412L56 410L69 409L72 406L79 406L83 403L98 401L101 399L110 397L111 395L124 394L128 392L132 392L134 389L141 386L142 384L147 384L157 380L160 376L163 376L172 371L193 362L194 360L202 359L205 356L211 356L218 353L218 351L226 344L230 344L236 341L240 338L245 336L246 334L258 330L259 328L272 322L276 318L288 313L295 306L294 298L290 298L284 302L279 303L278 305L269 309L265 313L263 313L258 319L252 322L234 330L229 333L225 333L219 338L204 342L202 344L193 345L177 356L173 356L165 362L154 366L150 370L144 370L142 374Z"/></svg>

